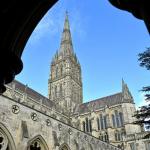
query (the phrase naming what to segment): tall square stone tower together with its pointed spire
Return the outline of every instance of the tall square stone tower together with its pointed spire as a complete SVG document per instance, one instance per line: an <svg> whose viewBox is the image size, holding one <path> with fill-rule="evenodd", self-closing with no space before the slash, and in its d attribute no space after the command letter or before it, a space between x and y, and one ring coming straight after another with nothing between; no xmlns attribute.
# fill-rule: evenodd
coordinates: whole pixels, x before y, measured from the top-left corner
<svg viewBox="0 0 150 150"><path fill-rule="evenodd" d="M48 97L64 112L73 112L82 103L81 67L73 50L68 13L60 48L51 62Z"/></svg>

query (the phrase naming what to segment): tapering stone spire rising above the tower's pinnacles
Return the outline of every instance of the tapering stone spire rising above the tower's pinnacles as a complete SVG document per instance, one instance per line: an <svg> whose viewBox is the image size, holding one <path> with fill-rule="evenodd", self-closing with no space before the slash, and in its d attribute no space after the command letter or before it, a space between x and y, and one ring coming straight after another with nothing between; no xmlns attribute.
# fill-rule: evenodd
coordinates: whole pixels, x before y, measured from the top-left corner
<svg viewBox="0 0 150 150"><path fill-rule="evenodd" d="M61 38L60 52L63 53L63 55L73 54L72 38L71 38L67 11L66 11L64 28L63 28L62 38Z"/></svg>

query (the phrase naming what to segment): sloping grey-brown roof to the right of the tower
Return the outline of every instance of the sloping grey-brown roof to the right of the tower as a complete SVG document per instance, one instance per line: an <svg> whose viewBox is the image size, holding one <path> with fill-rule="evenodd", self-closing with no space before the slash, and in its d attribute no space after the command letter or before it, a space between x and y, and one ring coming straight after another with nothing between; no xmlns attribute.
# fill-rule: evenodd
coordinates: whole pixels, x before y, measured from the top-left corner
<svg viewBox="0 0 150 150"><path fill-rule="evenodd" d="M109 106L113 106L113 105L120 104L123 102L125 102L123 99L123 94L122 92L120 92L120 93L116 93L110 96L92 100L87 103L83 103L79 106L77 112L79 112L80 114L87 113L87 112L91 112L92 110L98 110L106 106L109 107Z"/></svg>

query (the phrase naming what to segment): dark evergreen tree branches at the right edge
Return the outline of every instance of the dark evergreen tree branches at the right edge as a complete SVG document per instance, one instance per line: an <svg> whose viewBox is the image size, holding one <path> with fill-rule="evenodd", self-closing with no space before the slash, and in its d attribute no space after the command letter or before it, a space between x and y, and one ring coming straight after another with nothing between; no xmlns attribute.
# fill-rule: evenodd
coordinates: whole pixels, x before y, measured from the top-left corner
<svg viewBox="0 0 150 150"><path fill-rule="evenodd" d="M143 53L140 53L138 57L140 66L150 70L150 47ZM145 92L145 100L150 101L150 86L143 87L141 91ZM145 124L145 127L150 129L150 104L147 106L141 106L140 109L136 111L135 117L137 118L135 124ZM148 134L145 138L147 137L150 137L150 134Z"/></svg>

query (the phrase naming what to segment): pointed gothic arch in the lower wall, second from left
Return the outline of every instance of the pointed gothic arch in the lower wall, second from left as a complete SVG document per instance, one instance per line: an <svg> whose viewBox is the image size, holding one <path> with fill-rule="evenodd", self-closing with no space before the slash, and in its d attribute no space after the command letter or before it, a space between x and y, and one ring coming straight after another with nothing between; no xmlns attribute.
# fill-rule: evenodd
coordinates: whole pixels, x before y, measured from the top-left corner
<svg viewBox="0 0 150 150"><path fill-rule="evenodd" d="M44 138L37 135L28 142L27 150L49 150L49 148Z"/></svg>

